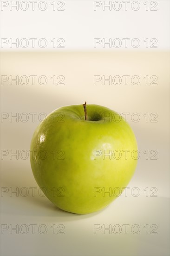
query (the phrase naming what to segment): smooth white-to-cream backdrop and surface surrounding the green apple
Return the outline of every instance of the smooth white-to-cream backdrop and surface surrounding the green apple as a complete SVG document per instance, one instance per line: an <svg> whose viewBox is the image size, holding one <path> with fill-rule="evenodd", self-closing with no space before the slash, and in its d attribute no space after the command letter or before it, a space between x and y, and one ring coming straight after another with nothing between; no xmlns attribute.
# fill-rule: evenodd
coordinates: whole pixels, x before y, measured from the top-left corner
<svg viewBox="0 0 170 256"><path fill-rule="evenodd" d="M169 1L18 2L1 1L1 255L168 256ZM81 216L39 191L29 147L47 114L85 101L127 118L140 157L127 190Z"/></svg>

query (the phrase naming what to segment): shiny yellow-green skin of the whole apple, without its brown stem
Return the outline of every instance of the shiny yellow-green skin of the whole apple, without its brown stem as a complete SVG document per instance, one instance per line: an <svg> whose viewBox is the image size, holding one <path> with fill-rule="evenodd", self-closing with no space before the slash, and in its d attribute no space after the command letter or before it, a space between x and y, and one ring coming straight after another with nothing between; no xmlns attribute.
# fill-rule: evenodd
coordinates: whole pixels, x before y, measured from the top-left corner
<svg viewBox="0 0 170 256"><path fill-rule="evenodd" d="M123 118L118 121L115 111L99 105L87 105L87 116L85 121L82 105L54 110L35 130L30 148L39 187L57 207L76 214L92 213L111 203L119 194L114 189L124 190L137 165L131 157L137 141ZM122 153L120 159L104 157L103 152L114 150ZM127 159L122 150L130 150Z"/></svg>

